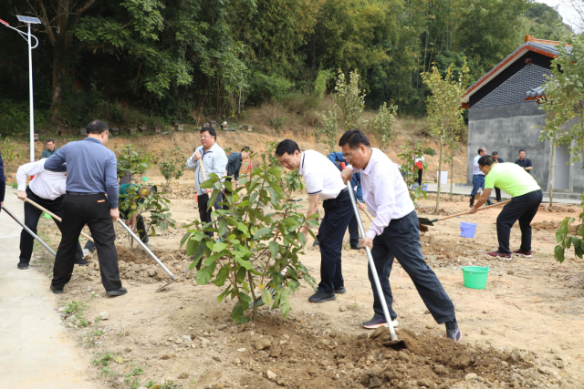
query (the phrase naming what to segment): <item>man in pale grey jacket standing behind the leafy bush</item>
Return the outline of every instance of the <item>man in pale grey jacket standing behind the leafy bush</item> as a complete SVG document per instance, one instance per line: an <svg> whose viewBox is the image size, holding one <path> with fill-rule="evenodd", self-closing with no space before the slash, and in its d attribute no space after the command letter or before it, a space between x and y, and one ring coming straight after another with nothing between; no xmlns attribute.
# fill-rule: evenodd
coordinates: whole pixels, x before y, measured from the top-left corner
<svg viewBox="0 0 584 389"><path fill-rule="evenodd" d="M208 223L211 221L211 208L208 207L208 201L213 194L214 189L201 189L201 184L204 182L203 170L201 169L201 161L203 161L203 168L207 179L213 173L219 177L224 177L227 166L227 156L224 149L215 143L217 134L214 128L203 127L201 129L201 146L194 150L193 156L186 160L186 167L189 170L194 170L194 187L197 190L199 198L199 216L201 221ZM215 200L215 210L220 210L219 203L222 201L222 194L220 193ZM207 210L208 208L208 210ZM207 235L213 237L213 232L207 232Z"/></svg>

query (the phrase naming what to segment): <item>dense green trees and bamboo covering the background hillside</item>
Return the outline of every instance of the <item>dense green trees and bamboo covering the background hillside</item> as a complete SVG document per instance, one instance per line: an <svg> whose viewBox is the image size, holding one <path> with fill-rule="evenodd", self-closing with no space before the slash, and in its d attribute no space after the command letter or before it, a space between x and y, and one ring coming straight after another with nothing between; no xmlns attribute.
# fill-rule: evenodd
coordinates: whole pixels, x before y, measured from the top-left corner
<svg viewBox="0 0 584 389"><path fill-rule="evenodd" d="M556 39L568 28L527 0L3 0L0 18L18 26L15 9L44 22L37 127L229 118L290 92L320 98L338 70L360 75L367 107L423 115L420 74L433 64L443 73L466 57L472 82L526 34ZM0 28L0 40L6 134L26 128L27 54L15 31Z"/></svg>

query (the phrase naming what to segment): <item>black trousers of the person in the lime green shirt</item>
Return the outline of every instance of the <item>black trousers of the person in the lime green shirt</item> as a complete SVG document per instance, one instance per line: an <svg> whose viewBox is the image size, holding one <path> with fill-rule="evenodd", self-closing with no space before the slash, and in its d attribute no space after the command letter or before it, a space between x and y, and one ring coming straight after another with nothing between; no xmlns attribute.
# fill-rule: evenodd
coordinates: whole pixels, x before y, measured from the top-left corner
<svg viewBox="0 0 584 389"><path fill-rule="evenodd" d="M496 237L499 241L499 251L510 254L509 236L511 228L519 220L521 229L521 251L531 251L531 220L536 216L539 204L544 194L541 189L514 197L506 204L496 218Z"/></svg>

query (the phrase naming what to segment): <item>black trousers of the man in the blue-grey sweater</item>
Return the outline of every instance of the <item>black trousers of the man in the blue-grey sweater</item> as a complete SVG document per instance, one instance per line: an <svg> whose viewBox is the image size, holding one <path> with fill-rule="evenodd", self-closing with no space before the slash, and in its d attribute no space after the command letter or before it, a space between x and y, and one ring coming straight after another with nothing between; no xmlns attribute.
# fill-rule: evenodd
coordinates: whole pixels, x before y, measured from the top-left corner
<svg viewBox="0 0 584 389"><path fill-rule="evenodd" d="M121 287L116 233L110 217L110 204L105 194L90 196L65 195L63 200L63 239L58 246L53 269L53 287L62 289L71 279L75 247L85 225L98 249L101 283L106 292Z"/></svg>

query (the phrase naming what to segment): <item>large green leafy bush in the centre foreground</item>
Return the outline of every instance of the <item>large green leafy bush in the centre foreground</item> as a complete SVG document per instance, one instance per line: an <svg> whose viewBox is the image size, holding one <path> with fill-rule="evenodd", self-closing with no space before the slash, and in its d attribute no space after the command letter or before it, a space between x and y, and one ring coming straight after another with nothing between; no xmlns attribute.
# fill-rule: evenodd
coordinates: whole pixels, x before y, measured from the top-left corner
<svg viewBox="0 0 584 389"><path fill-rule="evenodd" d="M224 288L218 302L227 296L236 300L231 315L237 323L250 320L244 315L250 307L251 320L255 319L260 299L273 309L279 308L286 318L292 309L289 294L297 291L300 280L315 286L299 261L306 244L300 229L304 225L317 227L318 220L316 215L307 219L296 211L297 205L284 201L279 185L282 170L264 163L241 179L238 189L212 174L201 188L214 188L209 200L213 204L224 185L232 192L224 198L229 210L214 210L210 223L195 220L181 241L181 245L186 243L187 255L193 256L190 268L197 269L197 284L213 282ZM223 239L214 241L205 231L217 232ZM310 234L314 237L312 231ZM286 278L286 273L291 278ZM268 288L275 291L274 296Z"/></svg>

